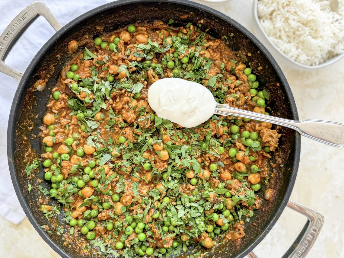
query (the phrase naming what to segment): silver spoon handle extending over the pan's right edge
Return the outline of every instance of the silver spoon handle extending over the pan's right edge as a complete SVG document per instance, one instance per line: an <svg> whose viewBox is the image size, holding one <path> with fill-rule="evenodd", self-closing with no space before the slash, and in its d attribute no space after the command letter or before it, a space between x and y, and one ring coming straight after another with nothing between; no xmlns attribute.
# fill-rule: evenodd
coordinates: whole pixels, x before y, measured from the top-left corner
<svg viewBox="0 0 344 258"><path fill-rule="evenodd" d="M329 144L337 148L344 148L344 124L331 122L304 119L301 121L294 121L279 117L267 116L255 112L233 108L226 104L216 104L215 114L222 116L238 116L259 121L273 123L294 129L300 135L311 138L322 143Z"/></svg>

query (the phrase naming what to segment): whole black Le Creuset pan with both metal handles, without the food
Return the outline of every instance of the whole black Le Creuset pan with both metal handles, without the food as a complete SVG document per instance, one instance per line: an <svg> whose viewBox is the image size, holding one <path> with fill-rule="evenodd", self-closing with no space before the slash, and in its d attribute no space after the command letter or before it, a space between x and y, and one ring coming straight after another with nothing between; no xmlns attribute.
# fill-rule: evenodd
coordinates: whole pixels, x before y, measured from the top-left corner
<svg viewBox="0 0 344 258"><path fill-rule="evenodd" d="M96 26L103 26L103 33L106 34L136 22L150 23L154 20L162 20L168 23L170 19L173 19L175 26L181 26L189 22L198 24L203 20L201 30L208 29L207 32L216 38L226 35L230 48L239 51L244 62L251 63L250 66L257 75L259 83L266 85L270 94L269 106L273 110L272 114L282 118L298 119L288 82L275 59L243 26L211 8L185 0L120 0L86 12L62 27L42 2L34 2L19 14L1 35L1 61L25 28L38 15L43 15L58 31L33 58L25 73L15 71L0 62L1 72L21 79L10 112L7 152L14 189L26 215L42 238L62 257L80 257L78 243L76 241L71 246L64 246L63 234L61 236L49 234L45 229L40 228L41 225L48 225L54 232L56 220L58 225L65 225L62 222L64 215L61 212L56 219L47 223L37 204L40 198L47 198L42 197L38 190L38 180L44 178L43 167L29 180L24 171L26 162L32 163L33 159L39 158L42 154L41 138L36 136L40 132L39 126L42 124L51 89L58 80L61 68L72 58L67 54L69 41L85 39L85 35L88 35L89 41L92 41L100 36ZM187 15L187 18L182 19L181 15ZM80 46L80 50L82 48L83 46ZM42 89L37 90L34 84L37 80L44 78L49 79L46 88L39 91ZM273 198L270 201L263 201L262 208L255 212L255 216L249 223L245 224L246 236L240 244L234 245L232 241L224 241L223 244L218 244L211 249L204 257L234 258L247 254L250 257L256 257L251 250L267 235L286 205L307 216L308 222L283 257L304 257L314 244L323 223L323 216L300 204L288 202L299 166L300 135L288 128L281 128L279 132L282 136L275 157L272 159L272 162L277 165L273 169L270 168L275 176L267 186L273 190ZM28 192L29 183L33 187L30 193ZM50 187L44 180L41 185L48 189ZM258 192L260 196L264 195L264 190L262 187ZM53 200L50 200L50 204L56 205ZM64 226L64 232L69 234L68 225ZM193 251L189 248L188 253ZM91 251L83 257L104 256L96 255L93 248L93 254Z"/></svg>

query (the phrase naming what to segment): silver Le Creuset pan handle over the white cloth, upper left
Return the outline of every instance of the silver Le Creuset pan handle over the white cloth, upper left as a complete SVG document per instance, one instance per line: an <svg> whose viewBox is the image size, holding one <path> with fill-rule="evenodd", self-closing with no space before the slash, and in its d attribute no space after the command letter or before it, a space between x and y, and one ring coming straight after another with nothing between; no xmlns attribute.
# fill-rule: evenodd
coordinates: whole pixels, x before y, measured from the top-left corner
<svg viewBox="0 0 344 258"><path fill-rule="evenodd" d="M62 28L43 2L36 1L30 4L13 19L0 36L0 72L21 79L23 73L7 66L4 61L20 36L39 15L42 15L56 31Z"/></svg>

